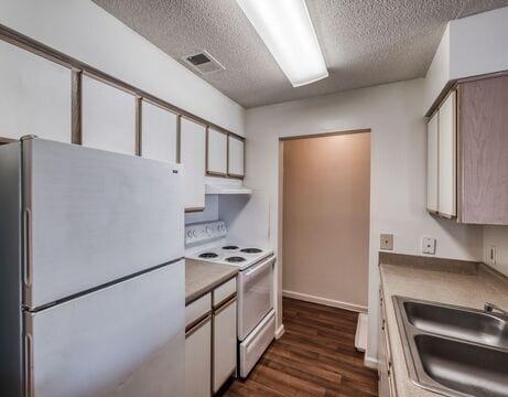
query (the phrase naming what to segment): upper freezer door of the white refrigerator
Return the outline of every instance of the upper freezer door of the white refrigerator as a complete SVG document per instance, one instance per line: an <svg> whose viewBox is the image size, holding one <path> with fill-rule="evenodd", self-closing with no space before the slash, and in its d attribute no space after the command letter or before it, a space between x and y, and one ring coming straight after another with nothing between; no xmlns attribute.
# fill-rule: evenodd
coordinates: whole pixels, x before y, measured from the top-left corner
<svg viewBox="0 0 508 397"><path fill-rule="evenodd" d="M42 139L22 150L25 307L183 257L180 165Z"/></svg>

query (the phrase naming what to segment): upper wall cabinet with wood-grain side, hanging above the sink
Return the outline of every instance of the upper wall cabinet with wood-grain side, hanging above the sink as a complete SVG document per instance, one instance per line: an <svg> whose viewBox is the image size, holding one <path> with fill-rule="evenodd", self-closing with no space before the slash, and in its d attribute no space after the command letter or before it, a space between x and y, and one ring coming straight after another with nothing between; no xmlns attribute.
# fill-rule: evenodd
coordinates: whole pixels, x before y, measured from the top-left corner
<svg viewBox="0 0 508 397"><path fill-rule="evenodd" d="M508 76L460 82L428 124L428 208L508 225ZM436 170L436 171L435 171Z"/></svg>

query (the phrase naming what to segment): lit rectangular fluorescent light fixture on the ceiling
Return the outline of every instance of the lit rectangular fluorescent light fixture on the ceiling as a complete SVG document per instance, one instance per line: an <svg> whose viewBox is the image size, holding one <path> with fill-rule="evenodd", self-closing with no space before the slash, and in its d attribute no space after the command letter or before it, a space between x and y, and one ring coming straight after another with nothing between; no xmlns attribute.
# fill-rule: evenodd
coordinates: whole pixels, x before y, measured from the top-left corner
<svg viewBox="0 0 508 397"><path fill-rule="evenodd" d="M237 0L293 87L328 76L305 0Z"/></svg>

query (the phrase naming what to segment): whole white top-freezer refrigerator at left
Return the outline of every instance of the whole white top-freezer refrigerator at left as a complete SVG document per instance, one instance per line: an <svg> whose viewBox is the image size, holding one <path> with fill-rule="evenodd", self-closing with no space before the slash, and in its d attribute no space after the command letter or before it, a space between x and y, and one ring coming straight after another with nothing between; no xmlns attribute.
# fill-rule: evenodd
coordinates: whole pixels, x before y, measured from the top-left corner
<svg viewBox="0 0 508 397"><path fill-rule="evenodd" d="M179 164L0 147L2 396L183 396Z"/></svg>

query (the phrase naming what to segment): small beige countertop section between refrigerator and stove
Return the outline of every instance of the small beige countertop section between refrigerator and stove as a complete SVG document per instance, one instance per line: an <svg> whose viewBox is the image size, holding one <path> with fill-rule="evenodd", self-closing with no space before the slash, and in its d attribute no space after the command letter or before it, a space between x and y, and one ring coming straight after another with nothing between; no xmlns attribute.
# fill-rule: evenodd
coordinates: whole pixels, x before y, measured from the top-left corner
<svg viewBox="0 0 508 397"><path fill-rule="evenodd" d="M185 259L185 304L238 273L238 267Z"/></svg>

